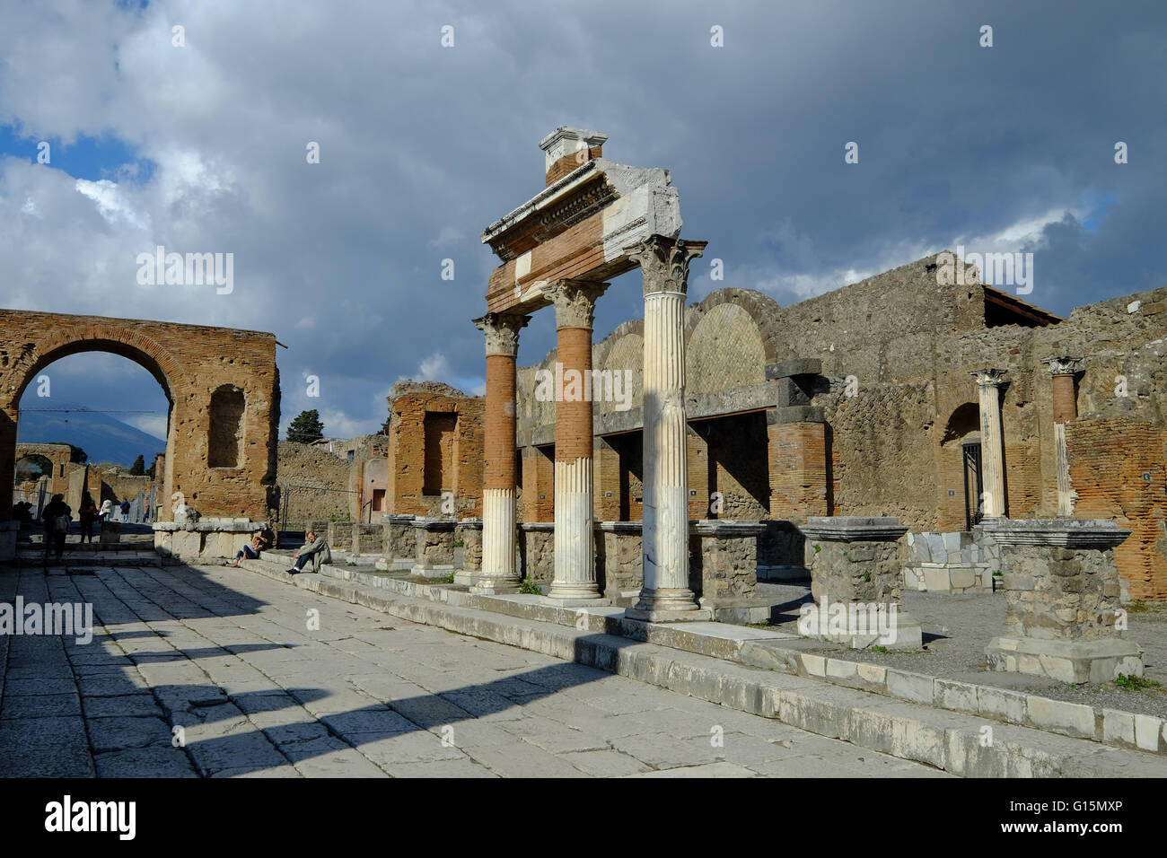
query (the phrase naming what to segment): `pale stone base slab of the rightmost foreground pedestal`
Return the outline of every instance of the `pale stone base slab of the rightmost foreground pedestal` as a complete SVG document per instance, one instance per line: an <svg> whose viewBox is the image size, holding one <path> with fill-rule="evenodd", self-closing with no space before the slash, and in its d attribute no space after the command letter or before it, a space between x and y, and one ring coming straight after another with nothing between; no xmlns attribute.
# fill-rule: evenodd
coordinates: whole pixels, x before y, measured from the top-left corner
<svg viewBox="0 0 1167 858"><path fill-rule="evenodd" d="M1119 674L1142 676L1142 650L1134 641L1037 641L994 637L985 648L990 670L1048 676L1067 683L1113 682Z"/></svg>

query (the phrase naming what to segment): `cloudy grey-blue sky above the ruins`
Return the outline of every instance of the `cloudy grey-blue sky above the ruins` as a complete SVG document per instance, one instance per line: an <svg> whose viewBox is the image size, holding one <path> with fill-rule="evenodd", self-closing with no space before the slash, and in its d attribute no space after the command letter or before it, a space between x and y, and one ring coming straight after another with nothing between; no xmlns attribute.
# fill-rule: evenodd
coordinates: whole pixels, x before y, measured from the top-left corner
<svg viewBox="0 0 1167 858"><path fill-rule="evenodd" d="M497 260L480 233L543 188L538 142L573 125L609 134L614 161L671 169L683 235L710 242L693 299L736 286L787 305L964 245L1032 252L1026 300L1065 314L1167 282L1165 9L6 2L0 306L268 330L289 346L285 427L315 407L329 435L376 431L400 377L481 390L469 320ZM158 245L233 253L233 290L140 285ZM640 293L635 273L615 281L598 337ZM553 341L537 315L520 362ZM165 430L128 361L75 356L50 377L54 396Z"/></svg>

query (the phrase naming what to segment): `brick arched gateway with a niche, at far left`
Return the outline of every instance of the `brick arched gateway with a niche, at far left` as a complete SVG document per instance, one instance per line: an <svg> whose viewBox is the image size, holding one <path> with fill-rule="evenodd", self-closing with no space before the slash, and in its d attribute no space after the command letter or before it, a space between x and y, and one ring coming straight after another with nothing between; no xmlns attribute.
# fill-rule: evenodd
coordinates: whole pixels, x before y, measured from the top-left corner
<svg viewBox="0 0 1167 858"><path fill-rule="evenodd" d="M165 498L203 516L263 521L277 508L275 337L254 330L0 309L0 537L12 515L25 389L62 357L109 351L146 368L169 402ZM161 521L172 521L163 503ZM11 526L11 525L9 525ZM0 559L12 540L0 538Z"/></svg>

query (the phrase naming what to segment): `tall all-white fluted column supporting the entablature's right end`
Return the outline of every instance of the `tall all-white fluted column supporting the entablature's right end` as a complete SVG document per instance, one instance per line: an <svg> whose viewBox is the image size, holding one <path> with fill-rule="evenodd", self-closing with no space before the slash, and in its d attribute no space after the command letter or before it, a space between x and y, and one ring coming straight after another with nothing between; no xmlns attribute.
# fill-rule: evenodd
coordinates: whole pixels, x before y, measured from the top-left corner
<svg viewBox="0 0 1167 858"><path fill-rule="evenodd" d="M644 588L627 615L707 619L689 588L685 293L705 242L650 236L628 249L644 278Z"/></svg>

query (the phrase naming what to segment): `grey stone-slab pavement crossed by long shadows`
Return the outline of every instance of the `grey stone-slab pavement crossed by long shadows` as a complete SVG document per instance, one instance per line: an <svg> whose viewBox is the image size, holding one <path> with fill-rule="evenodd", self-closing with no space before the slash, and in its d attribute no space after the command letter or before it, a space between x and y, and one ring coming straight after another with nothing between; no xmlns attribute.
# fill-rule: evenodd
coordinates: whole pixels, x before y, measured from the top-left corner
<svg viewBox="0 0 1167 858"><path fill-rule="evenodd" d="M95 634L0 636L4 776L946 776L243 571L0 570L18 593Z"/></svg>

